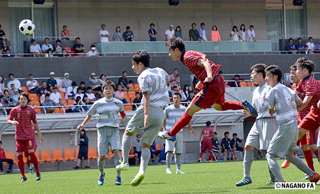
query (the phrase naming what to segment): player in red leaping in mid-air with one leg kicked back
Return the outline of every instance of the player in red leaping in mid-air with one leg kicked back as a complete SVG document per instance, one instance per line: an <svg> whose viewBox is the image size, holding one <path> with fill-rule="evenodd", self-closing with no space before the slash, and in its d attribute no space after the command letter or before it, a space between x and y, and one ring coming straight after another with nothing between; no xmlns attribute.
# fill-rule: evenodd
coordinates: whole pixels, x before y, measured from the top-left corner
<svg viewBox="0 0 320 194"><path fill-rule="evenodd" d="M181 38L172 38L167 42L169 56L174 60L180 60L183 65L199 80L196 88L200 92L192 99L183 116L175 126L167 132L160 131L158 136L162 139L170 139L191 121L194 113L215 106L216 110L240 110L245 109L256 116L256 110L245 100L241 102L224 101L224 78L219 76L221 65L215 65L209 61L206 54L185 50L185 44Z"/></svg>

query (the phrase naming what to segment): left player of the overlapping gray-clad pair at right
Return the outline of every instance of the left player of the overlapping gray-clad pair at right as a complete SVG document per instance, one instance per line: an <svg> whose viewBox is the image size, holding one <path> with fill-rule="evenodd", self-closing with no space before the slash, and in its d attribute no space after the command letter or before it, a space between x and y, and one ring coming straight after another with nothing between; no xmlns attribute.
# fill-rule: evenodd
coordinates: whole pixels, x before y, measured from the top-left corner
<svg viewBox="0 0 320 194"><path fill-rule="evenodd" d="M244 158L243 158L243 178L236 183L236 186L243 186L252 183L250 178L251 165L254 160L254 150L263 150L264 154L267 153L269 143L278 128L275 117L269 113L269 103L266 99L266 94L272 89L268 86L265 78L265 69L267 65L256 64L251 67L251 79L254 83L258 84L258 87L253 92L252 106L258 111L256 122L250 129L247 140L244 146ZM243 111L246 115L246 111ZM269 165L268 165L269 167ZM265 186L274 186L276 178L270 171L270 180Z"/></svg>

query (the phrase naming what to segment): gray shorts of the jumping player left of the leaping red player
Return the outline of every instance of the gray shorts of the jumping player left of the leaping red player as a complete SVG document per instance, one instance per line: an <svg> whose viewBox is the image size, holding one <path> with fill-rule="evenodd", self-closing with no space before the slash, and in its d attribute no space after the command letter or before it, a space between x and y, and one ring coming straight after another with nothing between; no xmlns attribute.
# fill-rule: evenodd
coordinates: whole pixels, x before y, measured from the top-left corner
<svg viewBox="0 0 320 194"><path fill-rule="evenodd" d="M164 112L160 107L149 107L149 121L148 127L144 128L144 107L139 106L134 115L128 122L127 130L133 132L133 134L141 133L141 142L143 144L152 145L155 141L158 132L162 129L164 121Z"/></svg>

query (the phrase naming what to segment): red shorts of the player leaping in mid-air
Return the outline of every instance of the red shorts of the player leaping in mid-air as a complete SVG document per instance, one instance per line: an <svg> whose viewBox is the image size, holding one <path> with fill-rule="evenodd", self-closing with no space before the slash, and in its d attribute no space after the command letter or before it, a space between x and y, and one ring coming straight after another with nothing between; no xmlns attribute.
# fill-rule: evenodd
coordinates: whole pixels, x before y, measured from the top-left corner
<svg viewBox="0 0 320 194"><path fill-rule="evenodd" d="M196 106L207 109L213 104L224 104L224 78L218 76L216 80L209 83L202 82L200 92L192 99Z"/></svg>

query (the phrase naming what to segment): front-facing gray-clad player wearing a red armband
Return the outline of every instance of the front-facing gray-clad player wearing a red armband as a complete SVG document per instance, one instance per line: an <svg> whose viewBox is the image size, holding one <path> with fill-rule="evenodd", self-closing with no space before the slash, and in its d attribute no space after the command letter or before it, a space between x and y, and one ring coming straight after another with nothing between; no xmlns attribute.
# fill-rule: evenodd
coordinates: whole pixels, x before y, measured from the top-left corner
<svg viewBox="0 0 320 194"><path fill-rule="evenodd" d="M78 130L81 130L90 119L96 114L99 114L99 120L96 123L97 135L98 135L98 169L100 176L98 179L98 185L101 186L104 183L105 172L105 158L109 153L109 146L114 157L114 165L120 164L121 156L121 144L119 136L119 124L117 122L117 116L120 112L121 119L120 124L125 124L127 116L125 113L125 107L121 100L113 97L115 90L115 84L112 81L105 81L102 84L102 91L104 97L96 100L87 112L87 116L83 120L82 124L78 126ZM116 185L121 185L121 172L117 171L117 178L115 180Z"/></svg>

